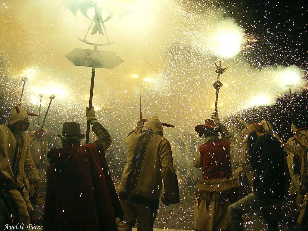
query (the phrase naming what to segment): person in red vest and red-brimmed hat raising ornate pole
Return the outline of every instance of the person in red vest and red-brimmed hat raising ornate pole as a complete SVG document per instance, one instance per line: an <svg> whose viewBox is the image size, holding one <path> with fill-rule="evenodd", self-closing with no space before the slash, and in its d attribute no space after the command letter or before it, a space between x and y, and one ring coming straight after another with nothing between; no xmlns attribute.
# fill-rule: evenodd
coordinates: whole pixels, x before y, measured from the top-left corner
<svg viewBox="0 0 308 231"><path fill-rule="evenodd" d="M242 194L232 178L230 133L220 122L218 112L212 119L195 128L199 136L205 136L194 160L194 167L202 168L203 176L196 185L193 218L194 229L200 231L228 230L227 208Z"/></svg>

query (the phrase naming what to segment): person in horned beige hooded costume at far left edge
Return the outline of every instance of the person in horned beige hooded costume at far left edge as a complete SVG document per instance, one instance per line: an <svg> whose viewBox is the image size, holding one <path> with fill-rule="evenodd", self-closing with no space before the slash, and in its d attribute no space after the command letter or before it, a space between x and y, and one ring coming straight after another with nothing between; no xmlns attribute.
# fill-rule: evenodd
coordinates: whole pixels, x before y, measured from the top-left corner
<svg viewBox="0 0 308 231"><path fill-rule="evenodd" d="M24 175L29 177L30 184L39 188L39 176L30 154L30 138L25 132L30 124L28 115L35 114L15 106L7 124L0 125L0 227L19 223L26 228L30 223L29 212L33 207L23 183Z"/></svg>

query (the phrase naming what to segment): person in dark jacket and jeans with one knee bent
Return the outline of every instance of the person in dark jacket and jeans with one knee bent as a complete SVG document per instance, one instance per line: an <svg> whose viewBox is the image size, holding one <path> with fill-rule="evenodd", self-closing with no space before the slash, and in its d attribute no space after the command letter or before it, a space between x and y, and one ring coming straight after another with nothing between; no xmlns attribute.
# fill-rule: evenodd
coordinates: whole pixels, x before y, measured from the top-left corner
<svg viewBox="0 0 308 231"><path fill-rule="evenodd" d="M244 231L242 215L261 210L268 230L278 230L285 190L284 150L280 141L255 123L245 128L250 165L256 170L253 193L228 207L231 231Z"/></svg>

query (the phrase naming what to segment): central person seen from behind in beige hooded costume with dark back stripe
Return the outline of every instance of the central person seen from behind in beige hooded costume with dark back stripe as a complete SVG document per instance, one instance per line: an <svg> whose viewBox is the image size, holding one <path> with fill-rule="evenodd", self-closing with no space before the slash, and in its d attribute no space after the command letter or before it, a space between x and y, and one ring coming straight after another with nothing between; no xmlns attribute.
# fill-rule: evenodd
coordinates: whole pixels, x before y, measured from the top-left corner
<svg viewBox="0 0 308 231"><path fill-rule="evenodd" d="M136 129L125 139L127 163L120 184L120 202L124 217L119 230L132 230L138 217L138 231L152 230L164 182L165 205L179 203L179 186L173 168L172 151L163 138L163 127L157 116Z"/></svg>

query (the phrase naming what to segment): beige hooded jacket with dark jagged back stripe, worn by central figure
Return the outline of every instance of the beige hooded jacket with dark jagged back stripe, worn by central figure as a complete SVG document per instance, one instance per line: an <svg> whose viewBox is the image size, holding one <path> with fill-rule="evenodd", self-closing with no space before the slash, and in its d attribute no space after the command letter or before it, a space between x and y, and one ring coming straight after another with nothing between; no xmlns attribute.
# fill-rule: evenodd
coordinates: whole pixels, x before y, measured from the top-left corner
<svg viewBox="0 0 308 231"><path fill-rule="evenodd" d="M163 138L163 127L157 116L144 125L138 122L125 140L127 162L120 184L120 199L158 209L164 181L170 204L179 203L179 186L173 168L171 146Z"/></svg>

